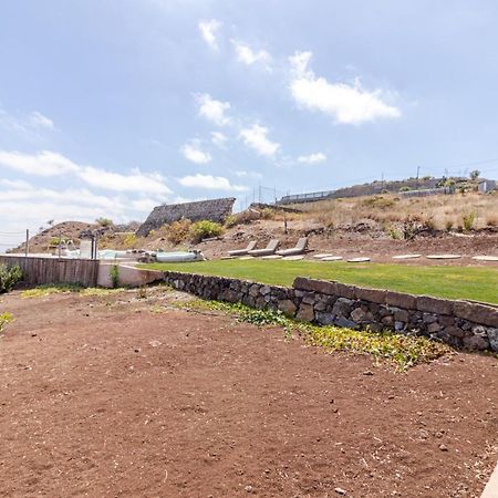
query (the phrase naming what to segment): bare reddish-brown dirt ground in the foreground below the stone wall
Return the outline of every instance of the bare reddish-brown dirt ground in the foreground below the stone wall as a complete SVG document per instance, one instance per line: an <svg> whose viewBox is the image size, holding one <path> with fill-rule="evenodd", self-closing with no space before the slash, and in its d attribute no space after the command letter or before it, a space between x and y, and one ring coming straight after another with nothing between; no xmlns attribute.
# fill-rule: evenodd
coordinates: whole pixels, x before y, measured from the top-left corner
<svg viewBox="0 0 498 498"><path fill-rule="evenodd" d="M396 373L186 299L0 298L0 496L480 495L497 359Z"/></svg>

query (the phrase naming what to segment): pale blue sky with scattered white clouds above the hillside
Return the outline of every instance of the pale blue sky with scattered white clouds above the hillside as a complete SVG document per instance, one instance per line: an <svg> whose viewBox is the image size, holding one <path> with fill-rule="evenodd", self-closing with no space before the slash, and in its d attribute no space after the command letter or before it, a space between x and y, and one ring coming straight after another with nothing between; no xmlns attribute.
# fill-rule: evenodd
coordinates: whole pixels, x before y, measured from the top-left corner
<svg viewBox="0 0 498 498"><path fill-rule="evenodd" d="M0 230L497 177L497 23L491 0L1 2Z"/></svg>

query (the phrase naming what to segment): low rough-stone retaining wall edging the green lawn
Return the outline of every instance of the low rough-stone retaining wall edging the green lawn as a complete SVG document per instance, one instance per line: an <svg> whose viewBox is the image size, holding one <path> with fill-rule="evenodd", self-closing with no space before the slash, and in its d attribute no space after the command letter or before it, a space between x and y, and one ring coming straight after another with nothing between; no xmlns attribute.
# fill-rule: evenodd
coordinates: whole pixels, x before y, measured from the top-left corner
<svg viewBox="0 0 498 498"><path fill-rule="evenodd" d="M297 278L292 288L168 271L175 289L204 299L281 310L322 325L426 335L455 347L498 352L498 308L340 282Z"/></svg>

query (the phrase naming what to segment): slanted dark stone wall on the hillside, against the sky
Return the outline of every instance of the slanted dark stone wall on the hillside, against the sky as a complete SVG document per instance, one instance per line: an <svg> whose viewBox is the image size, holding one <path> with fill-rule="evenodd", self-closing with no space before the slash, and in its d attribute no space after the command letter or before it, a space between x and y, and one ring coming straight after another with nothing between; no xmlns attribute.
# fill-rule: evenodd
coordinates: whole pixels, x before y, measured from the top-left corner
<svg viewBox="0 0 498 498"><path fill-rule="evenodd" d="M209 219L216 222L224 222L227 216L231 215L235 200L234 197L227 197L156 206L136 234L141 237L147 237L151 230L160 228L165 224L173 224L181 218L190 221Z"/></svg>

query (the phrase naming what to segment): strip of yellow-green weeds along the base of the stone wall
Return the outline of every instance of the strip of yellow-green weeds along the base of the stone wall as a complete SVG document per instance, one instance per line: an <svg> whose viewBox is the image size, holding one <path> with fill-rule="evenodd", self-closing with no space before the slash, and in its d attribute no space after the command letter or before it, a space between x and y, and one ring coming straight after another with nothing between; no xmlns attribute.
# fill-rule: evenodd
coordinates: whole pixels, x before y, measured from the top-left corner
<svg viewBox="0 0 498 498"><path fill-rule="evenodd" d="M222 311L234 314L240 322L257 326L281 326L286 339L291 338L292 332L297 332L309 344L331 352L370 354L375 361L394 364L398 371L436 360L452 351L449 346L427 338L371 330L354 331L339 326L318 326L289 319L278 311L255 310L241 303L194 300L181 303L181 308Z"/></svg>

